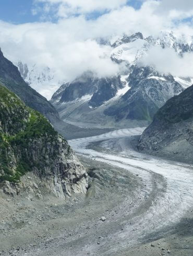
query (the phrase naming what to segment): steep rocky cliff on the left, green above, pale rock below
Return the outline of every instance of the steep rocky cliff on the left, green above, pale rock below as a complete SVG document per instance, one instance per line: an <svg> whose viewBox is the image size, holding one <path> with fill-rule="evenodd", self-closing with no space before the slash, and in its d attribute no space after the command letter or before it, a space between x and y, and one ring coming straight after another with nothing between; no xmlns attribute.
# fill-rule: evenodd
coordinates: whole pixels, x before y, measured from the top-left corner
<svg viewBox="0 0 193 256"><path fill-rule="evenodd" d="M87 187L86 170L66 140L42 114L2 85L0 187L10 195L53 193L64 198L84 193Z"/></svg>

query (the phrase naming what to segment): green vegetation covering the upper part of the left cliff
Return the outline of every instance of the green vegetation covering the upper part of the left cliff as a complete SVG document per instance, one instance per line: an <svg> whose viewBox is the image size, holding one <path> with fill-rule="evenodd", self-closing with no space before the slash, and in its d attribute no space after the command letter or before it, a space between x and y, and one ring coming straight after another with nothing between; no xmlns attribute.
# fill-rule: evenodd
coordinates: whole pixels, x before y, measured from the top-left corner
<svg viewBox="0 0 193 256"><path fill-rule="evenodd" d="M34 167L43 170L45 157L33 160L30 145L37 140L43 145L54 143L57 137L58 133L42 114L26 107L13 92L0 85L0 182L18 182Z"/></svg>

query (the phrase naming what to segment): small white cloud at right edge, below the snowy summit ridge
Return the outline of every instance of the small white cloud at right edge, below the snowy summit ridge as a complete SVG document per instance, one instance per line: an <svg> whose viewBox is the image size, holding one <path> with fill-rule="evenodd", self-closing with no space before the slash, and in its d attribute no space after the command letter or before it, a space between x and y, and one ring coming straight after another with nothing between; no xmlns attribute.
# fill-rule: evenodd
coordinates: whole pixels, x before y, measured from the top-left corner
<svg viewBox="0 0 193 256"><path fill-rule="evenodd" d="M193 76L193 53L184 53L183 57L180 57L171 48L162 49L160 46L153 46L138 64L153 66L160 73L170 73L177 77Z"/></svg>

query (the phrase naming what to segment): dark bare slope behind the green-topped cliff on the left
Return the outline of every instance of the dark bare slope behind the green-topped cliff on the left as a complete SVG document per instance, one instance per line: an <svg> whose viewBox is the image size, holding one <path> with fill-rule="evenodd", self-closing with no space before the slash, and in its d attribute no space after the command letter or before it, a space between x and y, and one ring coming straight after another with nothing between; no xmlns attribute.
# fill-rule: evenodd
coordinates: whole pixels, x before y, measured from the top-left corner
<svg viewBox="0 0 193 256"><path fill-rule="evenodd" d="M58 113L52 104L23 80L18 68L4 57L1 49L0 82L9 90L15 92L27 106L41 112L50 121L54 122L59 118Z"/></svg>

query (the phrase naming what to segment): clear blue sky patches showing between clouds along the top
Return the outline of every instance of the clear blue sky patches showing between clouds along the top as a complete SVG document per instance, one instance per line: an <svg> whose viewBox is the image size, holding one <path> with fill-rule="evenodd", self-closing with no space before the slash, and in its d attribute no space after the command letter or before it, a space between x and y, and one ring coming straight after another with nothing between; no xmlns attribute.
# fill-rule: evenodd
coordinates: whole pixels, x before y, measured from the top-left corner
<svg viewBox="0 0 193 256"><path fill-rule="evenodd" d="M40 3L38 4L39 7L41 5ZM141 6L141 1L129 0L128 5L138 9ZM0 20L13 24L39 21L41 13L32 15L31 10L33 7L33 0L0 0ZM91 14L90 18L93 19L100 15L100 13L94 13Z"/></svg>

